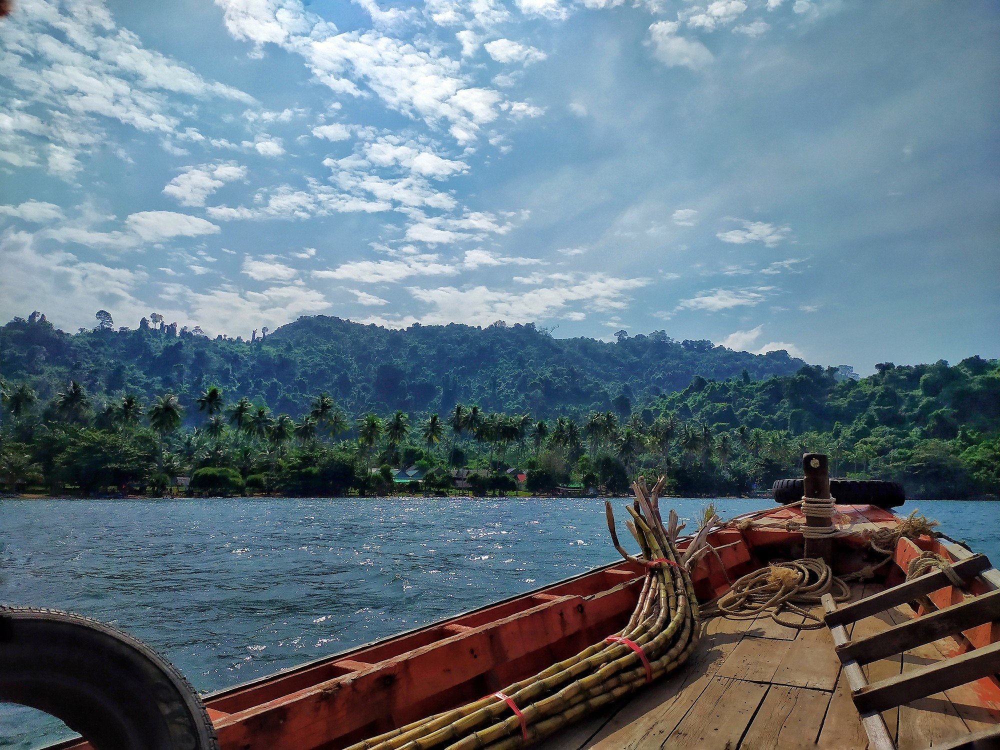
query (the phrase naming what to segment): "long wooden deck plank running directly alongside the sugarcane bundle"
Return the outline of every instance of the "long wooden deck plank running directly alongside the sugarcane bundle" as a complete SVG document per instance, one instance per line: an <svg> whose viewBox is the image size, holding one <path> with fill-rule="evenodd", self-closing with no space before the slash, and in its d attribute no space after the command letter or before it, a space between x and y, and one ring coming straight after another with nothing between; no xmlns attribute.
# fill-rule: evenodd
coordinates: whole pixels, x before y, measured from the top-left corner
<svg viewBox="0 0 1000 750"><path fill-rule="evenodd" d="M701 641L680 670L633 695L582 748L639 750L659 748L708 686L726 657L743 638L746 622L713 617L703 626ZM555 735L540 748L562 750ZM549 743L552 743L551 745Z"/></svg>

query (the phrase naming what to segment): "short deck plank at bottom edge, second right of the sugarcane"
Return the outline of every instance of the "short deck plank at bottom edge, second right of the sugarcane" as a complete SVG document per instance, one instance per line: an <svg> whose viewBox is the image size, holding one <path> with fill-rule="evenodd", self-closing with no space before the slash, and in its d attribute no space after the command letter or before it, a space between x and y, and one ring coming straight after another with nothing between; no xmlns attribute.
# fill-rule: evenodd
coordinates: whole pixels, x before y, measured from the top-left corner
<svg viewBox="0 0 1000 750"><path fill-rule="evenodd" d="M662 747L732 750L767 691L767 685L716 675Z"/></svg>

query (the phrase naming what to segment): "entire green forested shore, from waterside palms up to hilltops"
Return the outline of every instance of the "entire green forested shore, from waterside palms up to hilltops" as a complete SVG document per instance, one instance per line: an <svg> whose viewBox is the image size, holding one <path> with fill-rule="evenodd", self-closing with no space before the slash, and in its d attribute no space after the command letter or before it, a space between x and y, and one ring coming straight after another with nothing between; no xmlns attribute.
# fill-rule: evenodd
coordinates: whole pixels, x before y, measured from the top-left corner
<svg viewBox="0 0 1000 750"><path fill-rule="evenodd" d="M206 494L337 495L391 492L397 467L422 478L410 489L445 490L470 468L475 492L513 490L517 473L532 491L620 492L646 473L719 495L824 451L834 474L910 497L1000 494L1000 361L877 370L858 380L660 333L608 344L319 317L243 342L156 320L71 336L33 315L0 329L0 482L162 492L186 476Z"/></svg>

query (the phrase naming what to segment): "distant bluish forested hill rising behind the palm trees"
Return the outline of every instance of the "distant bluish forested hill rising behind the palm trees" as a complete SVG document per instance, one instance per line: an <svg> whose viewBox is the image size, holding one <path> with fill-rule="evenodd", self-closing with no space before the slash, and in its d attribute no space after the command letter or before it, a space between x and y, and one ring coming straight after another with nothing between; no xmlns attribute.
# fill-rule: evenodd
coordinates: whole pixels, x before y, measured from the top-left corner
<svg viewBox="0 0 1000 750"><path fill-rule="evenodd" d="M627 413L696 375L724 380L746 370L759 380L804 364L784 351L734 352L710 341L674 341L662 331L621 331L608 343L553 338L533 324L391 330L320 315L255 341L210 339L160 321L116 330L110 316L72 335L37 315L0 328L0 376L30 382L42 399L70 379L98 398L133 393L148 400L171 391L187 405L218 385L227 399L248 396L293 415L322 391L353 415L444 413L458 402L536 418Z"/></svg>

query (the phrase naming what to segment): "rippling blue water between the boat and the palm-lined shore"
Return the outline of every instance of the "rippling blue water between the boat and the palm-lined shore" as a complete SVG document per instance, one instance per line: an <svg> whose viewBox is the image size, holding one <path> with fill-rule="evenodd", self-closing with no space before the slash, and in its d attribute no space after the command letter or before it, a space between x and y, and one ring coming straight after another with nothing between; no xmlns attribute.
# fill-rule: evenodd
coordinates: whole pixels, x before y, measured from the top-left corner
<svg viewBox="0 0 1000 750"><path fill-rule="evenodd" d="M697 518L709 502L666 504ZM767 505L711 502L723 517ZM912 506L1000 560L1000 504ZM603 500L588 498L0 500L0 603L109 622L203 692L616 558ZM67 735L0 706L0 747Z"/></svg>

